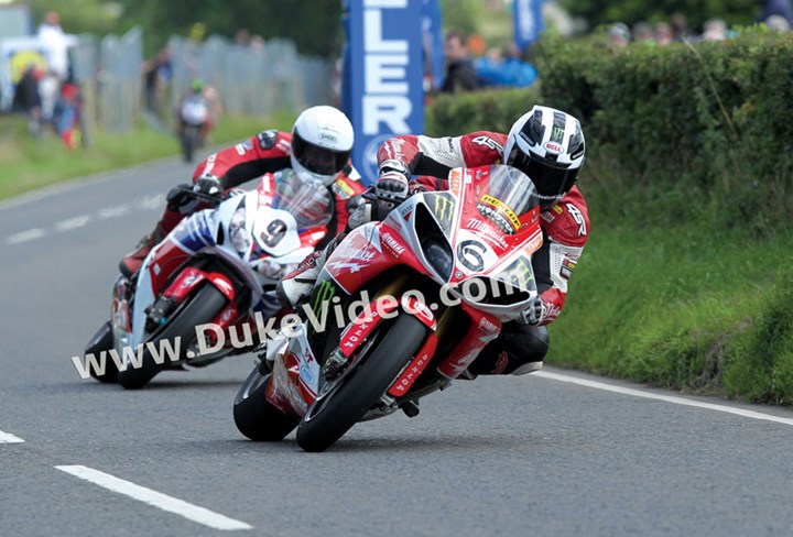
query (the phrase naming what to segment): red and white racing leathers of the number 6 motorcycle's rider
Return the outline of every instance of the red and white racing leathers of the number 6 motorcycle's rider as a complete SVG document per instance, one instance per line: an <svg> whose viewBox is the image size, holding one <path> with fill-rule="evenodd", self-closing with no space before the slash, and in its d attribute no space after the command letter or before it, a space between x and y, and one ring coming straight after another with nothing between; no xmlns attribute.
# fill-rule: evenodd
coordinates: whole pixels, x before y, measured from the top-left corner
<svg viewBox="0 0 793 537"><path fill-rule="evenodd" d="M385 141L378 153L381 176L422 175L411 185L447 189L452 168L500 164L507 135L479 131L463 136L400 135ZM506 322L498 339L489 343L468 368L467 374L523 374L536 371L548 350L546 325L562 313L567 282L589 237L589 215L582 193L574 186L558 202L541 213L543 245L532 256L539 299L523 322Z"/></svg>

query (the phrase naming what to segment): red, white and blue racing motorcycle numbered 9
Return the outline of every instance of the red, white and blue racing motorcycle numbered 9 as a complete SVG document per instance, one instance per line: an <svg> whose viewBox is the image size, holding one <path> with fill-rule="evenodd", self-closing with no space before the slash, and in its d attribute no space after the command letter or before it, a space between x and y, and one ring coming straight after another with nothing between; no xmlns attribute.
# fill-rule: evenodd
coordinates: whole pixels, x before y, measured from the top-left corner
<svg viewBox="0 0 793 537"><path fill-rule="evenodd" d="M285 169L185 218L133 281L116 282L110 320L86 348L100 357L91 375L139 388L165 369L252 350L258 328L281 313L275 285L325 238L333 204L322 183Z"/></svg>

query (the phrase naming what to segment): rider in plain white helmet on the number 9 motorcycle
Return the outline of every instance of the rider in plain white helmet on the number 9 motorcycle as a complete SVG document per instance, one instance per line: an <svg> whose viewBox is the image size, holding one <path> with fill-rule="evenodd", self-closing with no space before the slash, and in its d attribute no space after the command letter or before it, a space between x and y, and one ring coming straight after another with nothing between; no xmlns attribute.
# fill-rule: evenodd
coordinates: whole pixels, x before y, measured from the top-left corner
<svg viewBox="0 0 793 537"><path fill-rule="evenodd" d="M193 191L220 197L250 179L290 167L301 179L324 183L334 197L334 216L328 223L328 233L317 244L318 249L324 248L346 229L350 211L358 206L365 190L360 175L349 160L352 142L352 125L347 117L336 108L317 106L297 117L291 133L262 131L210 155L196 167L192 184L171 189L163 216L154 230L121 260L119 270L131 277L151 249L183 218L205 208L191 196Z"/></svg>

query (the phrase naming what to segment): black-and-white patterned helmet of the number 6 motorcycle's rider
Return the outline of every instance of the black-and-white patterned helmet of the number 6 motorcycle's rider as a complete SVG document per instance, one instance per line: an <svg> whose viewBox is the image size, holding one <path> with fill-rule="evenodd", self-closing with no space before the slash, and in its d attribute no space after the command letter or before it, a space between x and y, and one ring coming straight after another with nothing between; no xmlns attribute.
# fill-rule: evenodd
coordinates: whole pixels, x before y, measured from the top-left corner
<svg viewBox="0 0 793 537"><path fill-rule="evenodd" d="M569 113L535 106L510 129L504 164L525 173L548 209L573 188L585 154L580 122Z"/></svg>

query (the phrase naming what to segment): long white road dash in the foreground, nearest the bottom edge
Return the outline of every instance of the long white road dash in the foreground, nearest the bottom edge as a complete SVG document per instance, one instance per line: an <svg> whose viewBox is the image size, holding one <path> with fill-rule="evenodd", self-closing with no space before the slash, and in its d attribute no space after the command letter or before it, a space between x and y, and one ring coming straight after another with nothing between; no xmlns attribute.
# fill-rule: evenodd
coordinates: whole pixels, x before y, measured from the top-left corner
<svg viewBox="0 0 793 537"><path fill-rule="evenodd" d="M235 520L227 516L220 515L204 507L198 507L183 500L162 494L145 486L140 486L129 481L110 475L109 473L94 470L84 465L65 465L55 467L62 472L69 473L76 478L89 481L94 484L102 486L109 491L118 492L124 496L129 496L139 502L143 502L153 507L157 507L169 513L175 513L185 518L197 522L215 529L253 529L253 526L240 520Z"/></svg>

